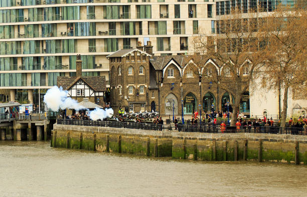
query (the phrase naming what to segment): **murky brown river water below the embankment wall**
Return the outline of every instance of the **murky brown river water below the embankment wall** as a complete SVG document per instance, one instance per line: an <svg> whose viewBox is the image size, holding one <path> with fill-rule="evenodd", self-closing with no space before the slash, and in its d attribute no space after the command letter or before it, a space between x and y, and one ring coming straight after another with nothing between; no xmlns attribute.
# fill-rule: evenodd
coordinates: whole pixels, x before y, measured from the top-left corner
<svg viewBox="0 0 307 197"><path fill-rule="evenodd" d="M0 196L307 196L307 166L156 159L0 141Z"/></svg>

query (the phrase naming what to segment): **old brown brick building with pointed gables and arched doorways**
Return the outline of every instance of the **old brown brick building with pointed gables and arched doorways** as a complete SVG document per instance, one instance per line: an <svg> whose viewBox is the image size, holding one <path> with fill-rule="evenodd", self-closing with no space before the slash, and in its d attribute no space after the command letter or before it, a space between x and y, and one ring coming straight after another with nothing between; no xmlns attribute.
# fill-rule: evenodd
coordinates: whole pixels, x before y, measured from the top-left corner
<svg viewBox="0 0 307 197"><path fill-rule="evenodd" d="M152 46L148 44L144 48L119 50L107 57L115 111L123 107L125 111L154 110L162 116L172 116L174 106L174 115L181 116L182 110L185 115L192 115L200 108L203 112L211 111L212 105L215 111L226 111L226 102L233 103L234 98L220 88L220 83L215 83L223 76L223 66L212 59L199 67L188 56L152 56ZM249 115L248 93L242 99L240 112Z"/></svg>

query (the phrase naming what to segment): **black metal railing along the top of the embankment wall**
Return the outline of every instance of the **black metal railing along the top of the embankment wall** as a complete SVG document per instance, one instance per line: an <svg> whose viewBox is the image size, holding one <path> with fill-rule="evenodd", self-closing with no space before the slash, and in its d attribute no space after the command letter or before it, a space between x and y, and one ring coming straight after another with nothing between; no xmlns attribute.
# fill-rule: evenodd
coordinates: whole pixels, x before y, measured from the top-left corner
<svg viewBox="0 0 307 197"><path fill-rule="evenodd" d="M214 124L154 124L141 122L120 121L94 121L57 119L57 124L77 126L98 126L112 128L129 128L144 130L178 130L180 132L202 132L202 133L270 133L270 134L292 134L306 135L307 132L301 127L278 127L278 126L220 126Z"/></svg>

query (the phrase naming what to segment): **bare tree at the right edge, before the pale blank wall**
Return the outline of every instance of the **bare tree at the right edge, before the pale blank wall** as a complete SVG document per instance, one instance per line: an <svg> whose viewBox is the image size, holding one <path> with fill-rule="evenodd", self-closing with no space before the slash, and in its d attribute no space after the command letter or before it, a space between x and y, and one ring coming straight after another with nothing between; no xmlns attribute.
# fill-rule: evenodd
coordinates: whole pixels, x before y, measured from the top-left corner
<svg viewBox="0 0 307 197"><path fill-rule="evenodd" d="M301 6L301 5L300 5ZM307 13L301 8L280 7L264 26L267 45L263 80L272 88L282 89L281 127L285 126L288 92L291 88L307 91Z"/></svg>

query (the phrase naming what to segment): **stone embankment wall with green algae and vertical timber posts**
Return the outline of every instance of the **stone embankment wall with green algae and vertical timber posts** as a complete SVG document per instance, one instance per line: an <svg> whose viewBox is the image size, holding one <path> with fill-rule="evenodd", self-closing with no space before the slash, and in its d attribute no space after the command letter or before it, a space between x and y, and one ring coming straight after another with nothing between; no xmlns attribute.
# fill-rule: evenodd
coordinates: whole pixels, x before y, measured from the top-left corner
<svg viewBox="0 0 307 197"><path fill-rule="evenodd" d="M51 146L176 159L307 164L307 136L302 135L189 133L55 124Z"/></svg>

